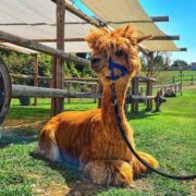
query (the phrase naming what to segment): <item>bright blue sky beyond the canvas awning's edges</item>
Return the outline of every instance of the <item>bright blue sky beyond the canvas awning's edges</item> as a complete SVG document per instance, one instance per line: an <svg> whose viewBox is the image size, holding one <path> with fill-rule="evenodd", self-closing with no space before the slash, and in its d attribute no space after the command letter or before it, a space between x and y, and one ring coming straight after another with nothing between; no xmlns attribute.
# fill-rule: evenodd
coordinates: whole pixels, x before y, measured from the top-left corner
<svg viewBox="0 0 196 196"><path fill-rule="evenodd" d="M149 16L169 15L170 22L157 23L168 35L180 35L176 47L186 47L187 52L172 52L172 60L182 59L196 62L196 0L139 0ZM76 5L91 15L85 7L75 0Z"/></svg>

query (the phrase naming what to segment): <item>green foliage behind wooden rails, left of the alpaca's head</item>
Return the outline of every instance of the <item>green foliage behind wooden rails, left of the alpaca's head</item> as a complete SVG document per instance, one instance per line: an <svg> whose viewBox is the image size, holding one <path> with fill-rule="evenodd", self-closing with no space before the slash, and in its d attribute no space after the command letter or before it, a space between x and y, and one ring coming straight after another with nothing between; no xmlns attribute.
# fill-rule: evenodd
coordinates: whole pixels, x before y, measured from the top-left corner
<svg viewBox="0 0 196 196"><path fill-rule="evenodd" d="M0 50L0 56L8 65L11 73L34 73L34 57ZM81 58L88 57L86 53L77 54ZM72 62L64 63L65 77L95 77L93 71L87 66L81 66ZM39 75L51 76L52 58L48 54L40 53L39 56Z"/></svg>

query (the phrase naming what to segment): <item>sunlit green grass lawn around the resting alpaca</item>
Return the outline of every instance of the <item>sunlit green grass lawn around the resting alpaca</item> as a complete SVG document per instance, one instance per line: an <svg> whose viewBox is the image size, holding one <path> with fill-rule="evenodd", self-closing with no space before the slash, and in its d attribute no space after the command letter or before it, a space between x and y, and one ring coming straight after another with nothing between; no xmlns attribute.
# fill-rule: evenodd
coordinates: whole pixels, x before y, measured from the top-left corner
<svg viewBox="0 0 196 196"><path fill-rule="evenodd" d="M39 106L12 106L0 139L0 195L196 195L196 181L179 182L145 174L135 188L98 186L66 163L49 163L34 158L37 133L50 115L49 100ZM87 110L96 103L71 102L66 110ZM170 98L160 113L127 114L137 148L154 155L161 170L173 174L196 173L196 88Z"/></svg>

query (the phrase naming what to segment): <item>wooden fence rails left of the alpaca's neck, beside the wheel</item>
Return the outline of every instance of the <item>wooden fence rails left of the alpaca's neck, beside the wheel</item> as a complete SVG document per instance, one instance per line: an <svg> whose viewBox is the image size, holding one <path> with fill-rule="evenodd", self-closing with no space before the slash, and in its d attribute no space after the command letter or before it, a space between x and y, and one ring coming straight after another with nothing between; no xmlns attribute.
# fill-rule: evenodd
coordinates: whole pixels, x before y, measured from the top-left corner
<svg viewBox="0 0 196 196"><path fill-rule="evenodd" d="M34 79L34 75L25 75L25 74L14 74L10 73L10 76L12 78L21 78L24 81L28 79ZM45 87L37 87L34 89L34 87L30 86L22 86L22 85L12 85L13 88L13 94L12 97L20 97L23 95L29 96L29 97L48 97L53 98L60 96L59 98L68 98L68 101L71 102L71 98L93 98L94 102L96 102L96 99L100 99L100 94L98 94L98 78L77 78L77 77L72 77L72 78L64 78L64 86L66 87L68 90L64 89L52 89L51 88L51 77L46 77L46 76L37 76L38 81L47 81L50 89L47 89ZM73 85L79 85L81 88L82 86L89 87L90 93L85 93L83 91L75 91L71 93L71 87ZM82 88L84 89L84 88ZM37 99L35 99L37 103Z"/></svg>

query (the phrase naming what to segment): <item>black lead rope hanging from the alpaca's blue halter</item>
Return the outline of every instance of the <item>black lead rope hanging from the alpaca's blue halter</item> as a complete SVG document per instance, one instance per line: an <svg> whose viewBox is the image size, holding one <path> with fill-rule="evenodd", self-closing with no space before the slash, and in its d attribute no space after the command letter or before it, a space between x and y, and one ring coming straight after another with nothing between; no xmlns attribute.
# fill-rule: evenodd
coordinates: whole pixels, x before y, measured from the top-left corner
<svg viewBox="0 0 196 196"><path fill-rule="evenodd" d="M118 103L117 103L115 85L114 85L114 83L112 83L112 85L111 85L111 93L112 93L111 102L112 102L113 108L114 108L114 114L115 114L115 120L118 122L119 130L121 132L121 135L122 135L126 146L128 147L131 152L138 159L138 161L142 162L150 171L152 171L152 172L155 172L157 174L160 174L160 175L162 175L164 177L174 179L174 180L182 180L182 181L196 179L196 174L181 176L181 175L168 174L168 173L164 173L162 171L156 170L150 164L148 164L143 158L139 157L139 155L135 151L135 149L131 145L130 140L127 139L125 131L124 131L124 127L123 127L123 124L122 124L122 121L121 121L121 117L119 115L119 107L118 107Z"/></svg>

